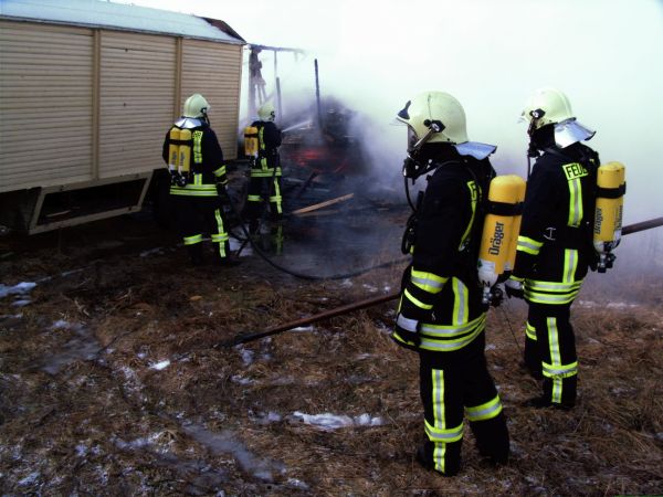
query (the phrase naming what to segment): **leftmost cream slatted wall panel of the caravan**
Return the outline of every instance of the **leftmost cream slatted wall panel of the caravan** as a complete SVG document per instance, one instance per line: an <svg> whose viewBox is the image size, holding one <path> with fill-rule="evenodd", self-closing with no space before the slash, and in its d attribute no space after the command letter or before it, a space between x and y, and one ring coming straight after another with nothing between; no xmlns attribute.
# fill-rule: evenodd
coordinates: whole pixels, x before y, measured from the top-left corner
<svg viewBox="0 0 663 497"><path fill-rule="evenodd" d="M93 32L0 21L0 192L90 179Z"/></svg>

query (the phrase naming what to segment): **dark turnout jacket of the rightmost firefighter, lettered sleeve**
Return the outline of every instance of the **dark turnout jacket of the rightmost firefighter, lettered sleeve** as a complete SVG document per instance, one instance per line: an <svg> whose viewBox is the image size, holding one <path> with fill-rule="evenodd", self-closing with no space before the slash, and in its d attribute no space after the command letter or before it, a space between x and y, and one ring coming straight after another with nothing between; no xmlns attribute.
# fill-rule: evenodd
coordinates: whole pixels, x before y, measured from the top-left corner
<svg viewBox="0 0 663 497"><path fill-rule="evenodd" d="M527 181L513 277L525 298L570 304L596 263L592 229L599 156L582 144L546 148Z"/></svg>

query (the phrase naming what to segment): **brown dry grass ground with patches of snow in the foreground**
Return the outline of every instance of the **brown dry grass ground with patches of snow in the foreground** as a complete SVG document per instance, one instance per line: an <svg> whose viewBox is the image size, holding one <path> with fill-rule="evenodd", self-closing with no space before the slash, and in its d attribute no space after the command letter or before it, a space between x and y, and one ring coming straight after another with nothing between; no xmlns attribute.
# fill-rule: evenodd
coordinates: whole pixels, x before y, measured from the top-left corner
<svg viewBox="0 0 663 497"><path fill-rule="evenodd" d="M214 348L393 292L400 267L332 282L256 257L191 268L170 235L131 223L78 230L85 250L55 234L24 250L0 241L0 283L38 283L28 305L0 299L3 496L663 493L660 266L610 292L609 275L590 275L573 315L581 372L571 412L519 406L538 392L518 368L526 308L492 309L486 355L512 462L488 467L466 431L463 470L443 478L413 458L418 363L388 337L393 302ZM325 413L347 425L303 421Z"/></svg>

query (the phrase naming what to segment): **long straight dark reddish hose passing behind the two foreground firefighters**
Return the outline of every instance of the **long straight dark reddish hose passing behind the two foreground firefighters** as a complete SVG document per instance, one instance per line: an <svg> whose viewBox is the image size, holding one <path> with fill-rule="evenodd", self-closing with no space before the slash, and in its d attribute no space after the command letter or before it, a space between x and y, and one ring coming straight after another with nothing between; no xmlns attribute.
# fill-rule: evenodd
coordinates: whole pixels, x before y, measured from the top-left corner
<svg viewBox="0 0 663 497"><path fill-rule="evenodd" d="M622 235L638 233L640 231L651 230L653 228L657 228L657 226L662 226L662 225L663 225L663 216L655 218L655 219L651 219L648 221L642 221L640 223L629 224L628 226L622 228ZM377 306L378 304L383 304L383 303L387 303L390 300L394 300L399 296L400 296L400 292L397 292L397 293L392 293L392 294L388 294L388 295L381 295L379 297L359 300L354 304L346 304L340 307L335 307L333 309L325 310L319 314L315 314L307 318L302 318L302 319L297 319L295 321L285 322L283 325L273 326L263 331L259 331L255 334L246 334L246 335L240 334L230 340L224 340L224 341L221 341L221 342L214 345L213 348L218 349L218 348L224 348L224 347L234 347L236 345L246 343L246 342L253 341L253 340L259 340L261 338L281 334L283 331L287 331L293 328L298 328L302 326L311 325L313 322L320 321L323 319L329 319L332 317L340 316L344 314L349 314L355 310L360 310L360 309L365 309L367 307Z"/></svg>

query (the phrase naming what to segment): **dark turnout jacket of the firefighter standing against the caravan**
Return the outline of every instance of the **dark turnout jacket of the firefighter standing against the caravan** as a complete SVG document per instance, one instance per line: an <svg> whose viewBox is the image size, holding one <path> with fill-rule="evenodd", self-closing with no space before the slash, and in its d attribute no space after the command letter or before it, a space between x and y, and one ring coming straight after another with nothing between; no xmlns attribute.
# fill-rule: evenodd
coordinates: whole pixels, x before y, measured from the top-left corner
<svg viewBox="0 0 663 497"><path fill-rule="evenodd" d="M223 151L219 145L217 134L210 125L197 118L182 118L175 123L175 127L191 130L191 176L185 187L171 184L170 194L186 197L217 197L217 186L228 183ZM162 157L168 163L168 149L170 146L170 131L164 140Z"/></svg>

